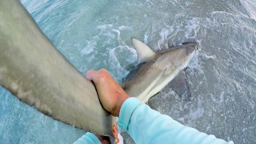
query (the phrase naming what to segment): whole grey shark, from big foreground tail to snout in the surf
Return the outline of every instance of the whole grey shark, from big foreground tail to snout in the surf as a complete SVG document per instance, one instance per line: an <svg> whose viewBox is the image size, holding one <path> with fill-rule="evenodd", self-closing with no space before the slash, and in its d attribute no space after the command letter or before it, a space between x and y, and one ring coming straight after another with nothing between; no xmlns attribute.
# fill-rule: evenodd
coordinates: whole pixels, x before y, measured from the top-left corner
<svg viewBox="0 0 256 144"><path fill-rule="evenodd" d="M138 64L122 87L146 102L189 62L195 44L154 53L133 38ZM0 0L0 85L38 111L82 130L113 136L116 118L102 108L92 82L54 47L18 0Z"/></svg>

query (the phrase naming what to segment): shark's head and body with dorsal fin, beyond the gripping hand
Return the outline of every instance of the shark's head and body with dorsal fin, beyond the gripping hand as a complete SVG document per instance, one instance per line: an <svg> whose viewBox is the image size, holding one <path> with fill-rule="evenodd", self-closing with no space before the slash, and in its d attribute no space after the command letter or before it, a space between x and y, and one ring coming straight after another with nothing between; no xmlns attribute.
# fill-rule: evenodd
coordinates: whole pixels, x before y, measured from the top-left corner
<svg viewBox="0 0 256 144"><path fill-rule="evenodd" d="M138 69L135 74L128 74L129 80L122 83L123 90L142 102L157 94L178 73L185 69L193 57L197 45L186 43L170 50L155 53L138 39L132 38L138 53Z"/></svg>

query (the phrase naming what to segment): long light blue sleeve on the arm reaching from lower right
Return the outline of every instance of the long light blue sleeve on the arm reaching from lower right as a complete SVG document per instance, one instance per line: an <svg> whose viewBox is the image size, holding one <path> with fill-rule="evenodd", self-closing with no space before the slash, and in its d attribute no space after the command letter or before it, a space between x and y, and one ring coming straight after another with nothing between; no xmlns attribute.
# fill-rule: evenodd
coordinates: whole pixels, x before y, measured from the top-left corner
<svg viewBox="0 0 256 144"><path fill-rule="evenodd" d="M194 128L184 126L165 114L152 110L150 106L137 98L128 98L122 104L118 126L126 130L139 143L207 143L223 144L226 142L214 135L201 133Z"/></svg>

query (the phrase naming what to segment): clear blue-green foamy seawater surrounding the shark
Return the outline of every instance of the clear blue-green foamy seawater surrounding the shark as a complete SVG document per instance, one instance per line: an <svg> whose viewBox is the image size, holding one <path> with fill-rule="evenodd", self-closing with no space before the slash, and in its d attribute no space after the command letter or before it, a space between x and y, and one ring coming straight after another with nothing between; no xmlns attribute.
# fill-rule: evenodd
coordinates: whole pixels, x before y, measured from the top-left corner
<svg viewBox="0 0 256 144"><path fill-rule="evenodd" d="M21 2L82 74L105 68L120 84L137 61L130 38L155 51L197 42L184 70L191 101L166 86L150 98L150 106L217 138L256 142L255 0ZM26 106L3 88L0 95L0 143L72 143L86 133Z"/></svg>

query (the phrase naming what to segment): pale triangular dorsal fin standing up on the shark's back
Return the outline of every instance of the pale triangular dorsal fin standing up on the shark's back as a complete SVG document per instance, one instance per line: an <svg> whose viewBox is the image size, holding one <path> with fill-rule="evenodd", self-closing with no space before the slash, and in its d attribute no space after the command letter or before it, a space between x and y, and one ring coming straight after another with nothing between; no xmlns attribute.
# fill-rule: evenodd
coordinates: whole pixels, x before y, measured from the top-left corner
<svg viewBox="0 0 256 144"><path fill-rule="evenodd" d="M138 39L131 38L131 41L133 42L134 47L138 54L137 65L151 60L156 55L156 53L153 50L151 50L149 46L146 46L145 43L139 41Z"/></svg>

